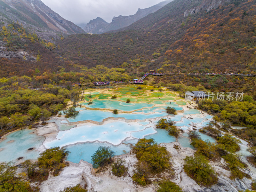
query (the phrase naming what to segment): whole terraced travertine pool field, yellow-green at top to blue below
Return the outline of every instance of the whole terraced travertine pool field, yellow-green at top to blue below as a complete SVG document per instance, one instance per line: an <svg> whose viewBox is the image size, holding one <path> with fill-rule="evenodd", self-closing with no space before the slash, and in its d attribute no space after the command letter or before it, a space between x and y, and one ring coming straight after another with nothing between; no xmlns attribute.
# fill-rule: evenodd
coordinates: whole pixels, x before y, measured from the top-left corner
<svg viewBox="0 0 256 192"><path fill-rule="evenodd" d="M130 144L135 145L140 138L153 138L158 144L175 142L176 138L168 135L166 130L155 128L160 118L175 121L183 130L195 125L197 128L203 127L212 118L192 109L189 103L164 88L160 92L152 86L141 85L142 89L137 87L131 85L110 90L84 90L83 96L87 101L80 102L82 107L76 108L79 114L75 118L61 116L48 121L57 127L55 139L44 140L44 137L32 133L33 129L13 132L0 142L0 156L4 156L1 161L19 162L17 158L20 156L23 160L36 159L42 148L59 146L70 151L69 161L91 162L92 154L100 145L108 146L116 155L121 155L128 153ZM111 99L113 95L117 98ZM127 99L131 102L126 103ZM89 105L88 101L92 101L92 104ZM178 114L167 114L165 108L168 106L175 108ZM117 109L118 114L113 114L113 109ZM40 132L40 128L37 129ZM8 143L11 140L14 141ZM181 146L191 147L186 137L179 138L178 142ZM28 151L28 148L33 150ZM10 155L10 151L14 153Z"/></svg>

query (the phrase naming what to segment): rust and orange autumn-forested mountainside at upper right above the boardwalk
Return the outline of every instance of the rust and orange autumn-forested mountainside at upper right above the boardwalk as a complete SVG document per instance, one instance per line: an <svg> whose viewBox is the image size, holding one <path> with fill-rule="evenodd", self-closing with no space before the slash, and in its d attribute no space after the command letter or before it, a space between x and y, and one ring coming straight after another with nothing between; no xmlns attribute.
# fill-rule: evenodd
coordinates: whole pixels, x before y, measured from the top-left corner
<svg viewBox="0 0 256 192"><path fill-rule="evenodd" d="M236 66L234 72L252 72L254 7L255 0L175 0L120 32L69 36L60 42L60 52L88 67L226 72Z"/></svg>

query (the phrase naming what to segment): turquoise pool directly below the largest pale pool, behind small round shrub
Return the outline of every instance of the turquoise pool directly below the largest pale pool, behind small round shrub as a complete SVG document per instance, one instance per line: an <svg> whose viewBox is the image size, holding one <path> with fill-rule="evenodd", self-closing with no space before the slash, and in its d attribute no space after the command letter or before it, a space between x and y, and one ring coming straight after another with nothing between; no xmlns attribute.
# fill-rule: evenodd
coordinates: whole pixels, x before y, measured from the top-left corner
<svg viewBox="0 0 256 192"><path fill-rule="evenodd" d="M77 144L74 146L67 147L67 150L71 151L71 153L67 157L67 160L73 163L79 163L80 160L82 159L84 161L92 163L92 155L100 146L109 147L111 150L114 150L116 152L115 155L122 155L125 153L129 153L131 150L130 145L124 145L124 144L121 144L119 146L113 146L107 143L99 143L99 142Z"/></svg>

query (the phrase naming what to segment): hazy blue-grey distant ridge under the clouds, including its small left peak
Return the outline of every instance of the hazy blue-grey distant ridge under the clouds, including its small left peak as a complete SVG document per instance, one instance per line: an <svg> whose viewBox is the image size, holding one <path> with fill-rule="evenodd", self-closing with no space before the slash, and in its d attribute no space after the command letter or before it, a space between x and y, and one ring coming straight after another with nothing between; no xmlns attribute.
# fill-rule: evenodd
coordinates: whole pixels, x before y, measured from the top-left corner
<svg viewBox="0 0 256 192"><path fill-rule="evenodd" d="M111 23L107 23L104 20L102 21L100 20L101 18L99 19L98 17L97 19L91 20L83 29L87 33L102 34L107 31L124 28L131 25L135 21L147 16L148 14L156 12L158 9L170 3L171 1L173 0L163 1L146 9L139 9L134 15L119 15L118 17L114 17Z"/></svg>

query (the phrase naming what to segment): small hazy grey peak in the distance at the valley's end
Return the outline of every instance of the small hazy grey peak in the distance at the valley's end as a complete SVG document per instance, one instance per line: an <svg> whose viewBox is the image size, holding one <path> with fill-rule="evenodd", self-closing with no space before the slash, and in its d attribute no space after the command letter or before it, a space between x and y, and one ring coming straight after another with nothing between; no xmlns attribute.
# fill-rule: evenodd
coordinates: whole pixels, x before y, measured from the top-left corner
<svg viewBox="0 0 256 192"><path fill-rule="evenodd" d="M100 17L96 19L90 20L89 23L83 28L86 33L94 33L100 34L105 31L105 27L107 27L109 23Z"/></svg>

